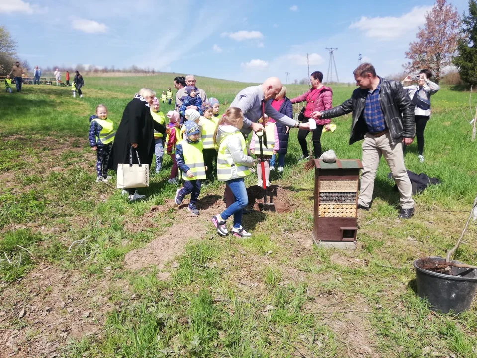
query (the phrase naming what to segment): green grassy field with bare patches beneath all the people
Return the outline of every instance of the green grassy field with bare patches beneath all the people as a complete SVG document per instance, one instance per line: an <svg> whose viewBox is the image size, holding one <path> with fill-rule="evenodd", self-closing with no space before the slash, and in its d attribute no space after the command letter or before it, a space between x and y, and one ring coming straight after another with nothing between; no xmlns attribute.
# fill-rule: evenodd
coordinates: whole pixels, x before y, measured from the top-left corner
<svg viewBox="0 0 477 358"><path fill-rule="evenodd" d="M199 217L173 204L167 156L144 201L95 183L95 106L119 123L139 88L159 93L173 77L85 78L81 99L46 85L0 92L0 357L477 357L475 302L458 317L430 311L412 268L454 245L476 195L468 93L433 97L425 163L408 148L409 170L442 181L415 197L415 216L397 219L382 160L357 250L334 251L311 241L314 174L298 163L296 130L283 176L272 174L291 211L246 215L249 239L215 233L219 183L202 190ZM197 85L222 103L247 86ZM288 97L307 89L287 87ZM333 103L353 89L333 86ZM359 158L350 116L335 123L324 149ZM459 260L477 263L476 233L471 222Z"/></svg>

